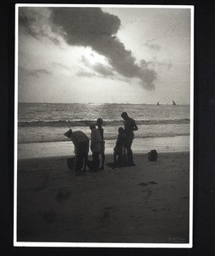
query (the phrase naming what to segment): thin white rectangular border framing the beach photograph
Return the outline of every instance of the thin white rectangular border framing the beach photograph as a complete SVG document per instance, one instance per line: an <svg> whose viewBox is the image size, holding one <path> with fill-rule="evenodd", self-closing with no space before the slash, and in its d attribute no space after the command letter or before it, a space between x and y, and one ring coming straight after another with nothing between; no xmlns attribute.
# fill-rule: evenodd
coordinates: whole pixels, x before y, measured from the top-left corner
<svg viewBox="0 0 215 256"><path fill-rule="evenodd" d="M118 242L29 242L17 241L17 142L18 142L18 21L20 7L81 7L81 8L144 8L190 9L190 140L189 140L189 243L118 243ZM194 12L193 5L131 5L131 4L15 4L15 145L14 145L14 246L15 247L136 247L136 248L192 248L193 247L193 189L194 189Z"/></svg>

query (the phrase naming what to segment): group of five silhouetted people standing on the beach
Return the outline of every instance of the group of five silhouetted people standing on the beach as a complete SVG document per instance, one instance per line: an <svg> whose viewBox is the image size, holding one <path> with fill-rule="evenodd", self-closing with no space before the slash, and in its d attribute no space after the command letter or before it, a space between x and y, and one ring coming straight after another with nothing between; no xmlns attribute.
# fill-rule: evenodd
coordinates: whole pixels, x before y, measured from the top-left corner
<svg viewBox="0 0 215 256"><path fill-rule="evenodd" d="M123 154L126 154L127 164L129 166L135 166L131 144L134 139L134 131L138 130L137 124L126 112L123 112L121 117L124 119L124 128L119 127L118 129L119 134L115 147L113 148L113 167L120 167ZM70 138L74 144L76 172L86 172L87 166L90 168L91 172L104 170L105 141L102 124L102 118L97 119L95 123L90 123L90 139L83 131L72 131L72 129L69 129L69 131L64 133L64 135ZM92 152L92 161L88 160L89 147ZM102 159L101 165L100 155Z"/></svg>

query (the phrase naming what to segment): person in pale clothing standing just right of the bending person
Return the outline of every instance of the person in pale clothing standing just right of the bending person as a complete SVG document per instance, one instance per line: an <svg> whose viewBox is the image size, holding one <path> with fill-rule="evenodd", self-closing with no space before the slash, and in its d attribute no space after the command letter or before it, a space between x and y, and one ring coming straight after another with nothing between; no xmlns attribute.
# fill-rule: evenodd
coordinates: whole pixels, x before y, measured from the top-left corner
<svg viewBox="0 0 215 256"><path fill-rule="evenodd" d="M91 141L90 141L90 149L92 151L92 159L93 159L93 172L97 172L100 162L99 155L101 154L101 146L102 146L102 137L100 132L96 129L96 123L90 124L91 130Z"/></svg>

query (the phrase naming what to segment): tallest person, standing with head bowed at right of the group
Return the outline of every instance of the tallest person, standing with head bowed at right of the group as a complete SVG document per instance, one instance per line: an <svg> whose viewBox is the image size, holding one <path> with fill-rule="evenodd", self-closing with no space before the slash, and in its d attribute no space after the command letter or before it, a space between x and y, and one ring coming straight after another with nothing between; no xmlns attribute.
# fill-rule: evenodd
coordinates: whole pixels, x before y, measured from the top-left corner
<svg viewBox="0 0 215 256"><path fill-rule="evenodd" d="M121 113L121 117L124 119L125 143L126 143L126 149L127 149L128 163L130 166L135 166L135 163L133 160L133 152L131 150L131 144L134 139L134 131L137 131L138 127L136 125L135 120L131 119L128 116L128 113L126 113L126 112Z"/></svg>

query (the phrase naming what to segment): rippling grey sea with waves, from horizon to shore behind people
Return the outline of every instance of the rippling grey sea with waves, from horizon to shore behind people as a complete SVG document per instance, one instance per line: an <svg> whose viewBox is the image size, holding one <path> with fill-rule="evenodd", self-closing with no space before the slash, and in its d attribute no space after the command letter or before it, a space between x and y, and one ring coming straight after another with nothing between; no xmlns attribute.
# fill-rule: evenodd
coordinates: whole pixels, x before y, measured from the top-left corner
<svg viewBox="0 0 215 256"><path fill-rule="evenodd" d="M136 120L138 126L138 131L135 131L136 139L133 147L141 148L145 143L150 148L150 142L155 142L151 147L160 147L161 143L161 147L164 148L167 147L168 142L171 146L171 143L178 144L178 138L182 142L184 137L187 137L183 144L185 149L189 150L189 105L108 103L19 103L19 148L22 151L28 148L27 152L32 148L31 144L34 145L34 148L38 148L39 152L39 148L45 148L45 143L46 145L53 143L52 145L58 148L62 143L68 142L68 138L63 134L69 128L73 131L84 131L90 137L89 124L99 117L103 119L106 145L113 148L118 128L124 123L121 118L121 113L124 111ZM184 150L184 146L182 150Z"/></svg>

